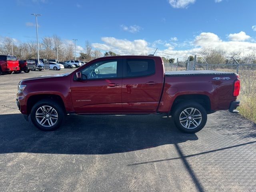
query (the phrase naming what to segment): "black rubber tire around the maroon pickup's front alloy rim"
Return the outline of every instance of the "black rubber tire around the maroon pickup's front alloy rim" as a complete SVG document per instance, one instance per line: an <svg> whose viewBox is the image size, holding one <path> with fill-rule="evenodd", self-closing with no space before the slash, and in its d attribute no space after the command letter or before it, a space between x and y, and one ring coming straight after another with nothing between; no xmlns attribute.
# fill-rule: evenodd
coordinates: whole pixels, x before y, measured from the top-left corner
<svg viewBox="0 0 256 192"><path fill-rule="evenodd" d="M55 124L53 124L52 126L42 126L38 120L46 120L46 124L44 125L50 125L50 119L49 121L46 119L46 116L45 117L42 117L42 118L38 118L38 120L36 119L36 112L39 110L39 112L41 112L40 110L40 107L43 107L43 106L48 106L48 107L52 107L56 113L54 113L55 115L57 114L57 120L55 122ZM45 107L45 109L49 109L47 107ZM47 113L44 113L44 114L47 114ZM50 113L48 113L50 114ZM52 114L53 115L53 114ZM39 102L37 102L31 109L31 113L30 113L30 117L31 117L31 120L33 122L33 124L40 130L42 131L54 131L56 129L58 129L60 127L60 125L62 124L63 120L64 120L64 109L62 108L62 106L58 103L58 102L55 102L55 101L52 101L50 99L44 99L44 100L41 100ZM48 118L50 118L51 116L48 116ZM53 117L52 117L53 118ZM48 123L49 122L49 123Z"/></svg>

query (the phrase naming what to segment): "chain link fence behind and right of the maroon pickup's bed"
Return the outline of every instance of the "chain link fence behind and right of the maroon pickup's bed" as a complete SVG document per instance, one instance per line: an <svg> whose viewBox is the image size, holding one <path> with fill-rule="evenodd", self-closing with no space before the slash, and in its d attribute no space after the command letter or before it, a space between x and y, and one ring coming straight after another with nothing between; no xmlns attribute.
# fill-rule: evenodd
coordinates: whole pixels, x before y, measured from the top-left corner
<svg viewBox="0 0 256 192"><path fill-rule="evenodd" d="M179 61L176 63L165 63L166 71L181 70L216 70L238 73L241 80L240 95L238 100L241 102L239 107L240 114L256 122L256 64L254 58L233 58L229 64L208 64L205 60L198 63L196 56L194 60ZM239 63L239 62L244 63Z"/></svg>

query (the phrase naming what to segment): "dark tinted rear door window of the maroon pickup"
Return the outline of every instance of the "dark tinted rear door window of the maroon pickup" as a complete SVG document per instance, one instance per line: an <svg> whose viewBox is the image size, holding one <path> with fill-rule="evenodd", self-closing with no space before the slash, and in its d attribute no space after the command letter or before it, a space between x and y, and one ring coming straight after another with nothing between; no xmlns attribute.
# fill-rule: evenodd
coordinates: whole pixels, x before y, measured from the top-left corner
<svg viewBox="0 0 256 192"><path fill-rule="evenodd" d="M155 62L152 59L127 59L126 77L148 76L155 73Z"/></svg>

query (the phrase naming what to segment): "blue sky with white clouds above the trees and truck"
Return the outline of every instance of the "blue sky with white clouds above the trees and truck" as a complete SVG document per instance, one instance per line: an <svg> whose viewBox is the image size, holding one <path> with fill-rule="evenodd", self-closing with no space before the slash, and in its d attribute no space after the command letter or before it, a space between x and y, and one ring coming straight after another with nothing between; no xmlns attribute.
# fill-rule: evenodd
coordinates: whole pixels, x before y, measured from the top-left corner
<svg viewBox="0 0 256 192"><path fill-rule="evenodd" d="M1 2L0 40L14 43L57 34L78 52L94 48L119 54L196 54L210 45L228 52L256 49L255 0L8 0ZM234 48L237 47L237 48Z"/></svg>

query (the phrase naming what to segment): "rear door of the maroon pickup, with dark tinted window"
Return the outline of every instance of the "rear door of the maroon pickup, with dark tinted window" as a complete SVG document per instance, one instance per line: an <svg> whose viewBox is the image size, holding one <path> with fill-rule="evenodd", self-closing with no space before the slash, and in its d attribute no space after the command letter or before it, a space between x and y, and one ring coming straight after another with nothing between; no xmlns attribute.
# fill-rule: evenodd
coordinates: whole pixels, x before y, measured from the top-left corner
<svg viewBox="0 0 256 192"><path fill-rule="evenodd" d="M163 67L154 59L124 59L122 106L124 111L155 111L163 84Z"/></svg>

